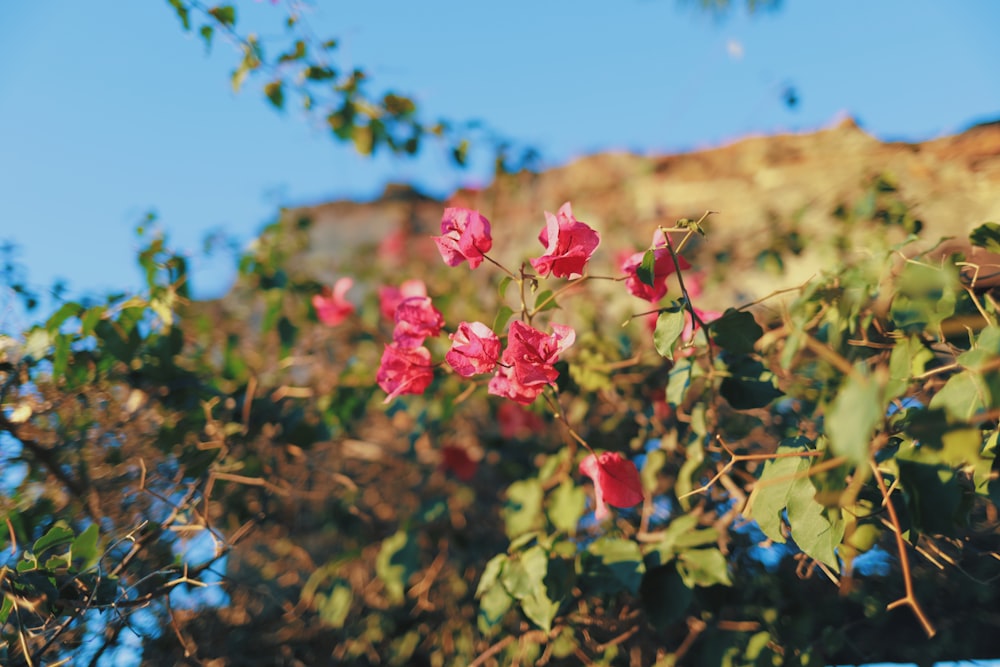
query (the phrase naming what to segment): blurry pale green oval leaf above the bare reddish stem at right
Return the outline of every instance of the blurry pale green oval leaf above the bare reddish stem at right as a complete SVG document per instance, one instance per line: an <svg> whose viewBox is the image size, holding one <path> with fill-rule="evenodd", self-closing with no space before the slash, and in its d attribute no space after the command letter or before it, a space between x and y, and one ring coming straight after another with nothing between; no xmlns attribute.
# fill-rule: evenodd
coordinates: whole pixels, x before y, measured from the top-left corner
<svg viewBox="0 0 1000 667"><path fill-rule="evenodd" d="M856 466L867 466L872 436L884 414L878 384L871 378L848 377L823 418L830 450Z"/></svg>

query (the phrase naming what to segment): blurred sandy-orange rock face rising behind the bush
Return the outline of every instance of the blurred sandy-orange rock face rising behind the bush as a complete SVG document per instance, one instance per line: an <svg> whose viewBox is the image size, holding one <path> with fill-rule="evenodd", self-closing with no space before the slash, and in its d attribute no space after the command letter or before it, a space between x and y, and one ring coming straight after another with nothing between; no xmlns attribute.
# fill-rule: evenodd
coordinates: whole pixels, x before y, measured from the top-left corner
<svg viewBox="0 0 1000 667"><path fill-rule="evenodd" d="M751 137L679 155L587 156L539 174L504 176L482 190L459 190L447 202L390 186L370 203L331 202L289 215L313 220L302 268L322 278L332 277L338 260L374 252L395 231L410 235L416 252L434 261L424 237L437 233L449 204L481 210L493 222L493 253L513 257L513 264L538 254L542 212L565 201L602 233L598 255L605 264L595 257L594 270L612 273L613 258L648 243L656 225L716 211L707 239L692 251L716 270L740 270L739 296L756 297L808 278L831 254L863 251L870 233L904 239L903 226L879 222L885 207L919 219L926 247L1000 220L1000 122L909 144L879 141L848 119L814 133ZM869 204L875 218L865 217ZM780 267L768 253L782 258Z"/></svg>

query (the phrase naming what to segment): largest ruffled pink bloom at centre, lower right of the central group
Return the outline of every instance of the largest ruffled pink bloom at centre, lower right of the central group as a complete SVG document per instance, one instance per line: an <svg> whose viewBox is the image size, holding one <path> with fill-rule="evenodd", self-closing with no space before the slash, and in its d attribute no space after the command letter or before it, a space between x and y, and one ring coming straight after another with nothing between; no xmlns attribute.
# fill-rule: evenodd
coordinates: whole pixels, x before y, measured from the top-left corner
<svg viewBox="0 0 1000 667"><path fill-rule="evenodd" d="M500 357L500 367L490 380L488 391L522 405L529 405L547 385L559 377L555 362L559 354L573 344L576 332L559 324L545 334L520 320L514 320L507 332L507 348Z"/></svg>

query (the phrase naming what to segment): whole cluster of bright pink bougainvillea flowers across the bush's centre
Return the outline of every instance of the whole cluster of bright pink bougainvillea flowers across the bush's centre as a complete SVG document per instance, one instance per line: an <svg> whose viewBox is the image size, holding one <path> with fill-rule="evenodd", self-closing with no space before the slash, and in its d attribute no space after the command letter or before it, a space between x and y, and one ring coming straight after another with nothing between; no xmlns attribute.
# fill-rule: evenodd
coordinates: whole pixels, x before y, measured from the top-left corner
<svg viewBox="0 0 1000 667"><path fill-rule="evenodd" d="M601 242L597 231L576 219L568 202L555 214L545 213L545 225L538 234L544 252L523 264L520 275L503 268L487 255L493 248L492 230L490 221L479 211L461 207L445 209L441 234L433 238L441 258L449 266L468 262L469 267L475 269L484 261L496 264L521 285L522 299L527 281L531 281L534 289L538 277L588 280L587 264ZM667 236L657 230L650 250L623 258L621 270L626 289L634 296L656 303L667 292L668 277L690 268L683 258L675 261L675 257ZM529 263L530 269L527 268ZM343 291L346 287L339 292L335 290L335 294L343 299ZM700 282L693 279L688 293L696 292L700 292ZM425 341L441 335L444 317L434 307L427 286L420 280L380 288L379 306L382 316L394 324L392 342L385 346L377 374L379 386L387 393L385 400L391 401L402 394L420 394L434 380L435 364ZM319 304L317 312L320 312ZM522 303L521 319L513 320L500 335L482 322L469 321L459 322L455 330L448 333L451 345L444 356L447 367L463 378L492 373L486 383L487 392L510 399L497 412L501 429L508 434L505 437L530 436L531 431L542 427L543 422L521 406L531 405L546 387L556 384L559 378L556 363L576 340L576 332L568 326L553 323L547 331L537 328L533 319L538 312L537 306L529 311ZM680 334L686 344L693 341L699 322L706 323L719 316L709 311L694 312L698 321L688 313ZM320 317L323 319L322 314ZM512 410L517 412L512 413ZM529 432L525 433L525 429ZM442 465L463 479L471 477L475 471L475 462L468 458L468 453L456 447L443 450ZM610 515L609 506L627 508L643 501L635 464L617 452L597 454L591 450L580 462L579 471L593 481L595 516L599 520Z"/></svg>

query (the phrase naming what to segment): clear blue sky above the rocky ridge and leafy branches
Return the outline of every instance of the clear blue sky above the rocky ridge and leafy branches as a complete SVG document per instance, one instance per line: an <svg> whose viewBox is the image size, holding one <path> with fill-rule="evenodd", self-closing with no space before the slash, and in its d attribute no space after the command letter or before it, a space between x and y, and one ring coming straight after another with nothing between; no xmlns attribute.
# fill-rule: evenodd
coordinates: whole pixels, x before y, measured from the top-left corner
<svg viewBox="0 0 1000 667"><path fill-rule="evenodd" d="M279 30L280 7L235 4L241 22ZM315 0L311 23L375 89L412 93L431 117L481 118L547 164L816 129L841 112L913 140L1000 116L998 2L785 0L723 21L694 4ZM249 240L279 205L484 179L433 149L361 158L271 109L260 82L234 94L236 60L223 42L206 56L164 0L3 3L0 241L19 246L35 285L137 289L132 229L149 210L195 252L211 229ZM196 294L225 289L218 264L197 265Z"/></svg>

